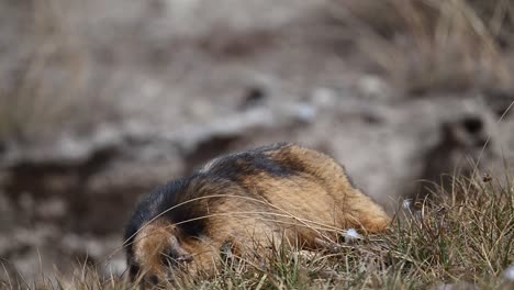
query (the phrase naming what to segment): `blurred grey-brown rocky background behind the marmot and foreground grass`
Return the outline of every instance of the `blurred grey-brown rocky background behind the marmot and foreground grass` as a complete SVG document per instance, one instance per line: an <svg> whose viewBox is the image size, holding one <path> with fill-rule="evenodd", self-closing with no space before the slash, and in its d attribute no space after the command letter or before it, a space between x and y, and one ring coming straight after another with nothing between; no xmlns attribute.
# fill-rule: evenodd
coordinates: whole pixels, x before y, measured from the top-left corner
<svg viewBox="0 0 514 290"><path fill-rule="evenodd" d="M0 280L123 272L142 193L275 142L390 212L505 180L513 45L510 0L0 0Z"/></svg>

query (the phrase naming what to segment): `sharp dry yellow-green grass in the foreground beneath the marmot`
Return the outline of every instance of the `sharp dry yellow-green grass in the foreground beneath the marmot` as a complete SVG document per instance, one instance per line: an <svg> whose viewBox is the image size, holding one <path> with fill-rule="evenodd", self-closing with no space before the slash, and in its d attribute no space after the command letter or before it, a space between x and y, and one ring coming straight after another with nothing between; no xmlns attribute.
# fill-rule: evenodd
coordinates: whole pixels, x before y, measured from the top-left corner
<svg viewBox="0 0 514 290"><path fill-rule="evenodd" d="M273 249L255 265L226 255L214 278L181 279L179 289L431 289L440 283L512 289L514 265L512 178L456 179L451 193L399 210L389 233L342 241L324 253ZM446 190L448 191L448 190ZM437 192L435 192L437 193ZM264 252L262 252L264 253ZM269 252L266 252L269 253ZM30 289L133 289L86 267L71 280L47 278ZM7 289L16 289L13 279Z"/></svg>

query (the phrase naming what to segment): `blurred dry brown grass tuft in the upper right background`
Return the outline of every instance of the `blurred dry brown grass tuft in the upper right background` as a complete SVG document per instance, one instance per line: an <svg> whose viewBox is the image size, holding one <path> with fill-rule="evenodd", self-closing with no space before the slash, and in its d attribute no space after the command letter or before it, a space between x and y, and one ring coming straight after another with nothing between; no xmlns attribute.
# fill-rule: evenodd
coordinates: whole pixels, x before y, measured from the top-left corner
<svg viewBox="0 0 514 290"><path fill-rule="evenodd" d="M336 0L332 15L407 92L512 89L512 1Z"/></svg>

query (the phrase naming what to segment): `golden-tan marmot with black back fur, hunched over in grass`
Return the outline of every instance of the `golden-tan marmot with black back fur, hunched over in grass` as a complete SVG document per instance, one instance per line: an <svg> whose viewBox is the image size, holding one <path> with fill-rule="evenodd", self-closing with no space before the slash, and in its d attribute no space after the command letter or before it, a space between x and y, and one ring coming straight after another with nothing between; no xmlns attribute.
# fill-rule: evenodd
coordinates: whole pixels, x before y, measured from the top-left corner
<svg viewBox="0 0 514 290"><path fill-rule="evenodd" d="M226 245L237 255L283 241L315 249L344 228L377 233L389 222L331 157L270 145L215 158L144 196L125 232L130 277L212 275Z"/></svg>

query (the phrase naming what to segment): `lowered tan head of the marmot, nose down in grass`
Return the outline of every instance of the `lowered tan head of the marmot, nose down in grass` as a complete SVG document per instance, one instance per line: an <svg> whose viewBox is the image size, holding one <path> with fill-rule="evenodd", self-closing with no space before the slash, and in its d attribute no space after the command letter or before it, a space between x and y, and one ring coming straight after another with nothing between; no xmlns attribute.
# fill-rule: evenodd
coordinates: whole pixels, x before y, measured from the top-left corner
<svg viewBox="0 0 514 290"><path fill-rule="evenodd" d="M131 280L158 283L174 279L176 271L187 270L193 257L186 248L185 236L172 223L159 219L139 228L127 245Z"/></svg>

